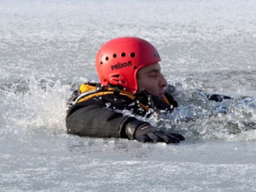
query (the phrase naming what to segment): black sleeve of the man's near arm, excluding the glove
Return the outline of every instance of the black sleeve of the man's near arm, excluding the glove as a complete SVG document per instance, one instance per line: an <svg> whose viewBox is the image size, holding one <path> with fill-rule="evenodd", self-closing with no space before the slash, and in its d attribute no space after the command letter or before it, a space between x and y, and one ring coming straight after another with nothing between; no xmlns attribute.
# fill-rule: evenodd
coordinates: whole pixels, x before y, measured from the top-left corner
<svg viewBox="0 0 256 192"><path fill-rule="evenodd" d="M125 134L125 125L131 121L135 127L146 124L111 109L90 105L79 108L67 116L66 124L68 133L79 136L128 138Z"/></svg>

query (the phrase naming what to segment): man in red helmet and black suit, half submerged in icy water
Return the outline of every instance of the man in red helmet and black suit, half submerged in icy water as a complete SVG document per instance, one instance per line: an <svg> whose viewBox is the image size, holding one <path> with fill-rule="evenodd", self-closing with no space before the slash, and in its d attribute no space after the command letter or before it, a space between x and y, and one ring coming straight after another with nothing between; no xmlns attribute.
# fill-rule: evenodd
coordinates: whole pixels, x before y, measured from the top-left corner
<svg viewBox="0 0 256 192"><path fill-rule="evenodd" d="M158 51L142 38L114 38L96 55L100 84L81 84L67 111L67 132L86 137L116 137L148 143L179 143L184 137L137 119L163 111L177 102L168 94L160 72ZM123 112L130 111L131 115Z"/></svg>

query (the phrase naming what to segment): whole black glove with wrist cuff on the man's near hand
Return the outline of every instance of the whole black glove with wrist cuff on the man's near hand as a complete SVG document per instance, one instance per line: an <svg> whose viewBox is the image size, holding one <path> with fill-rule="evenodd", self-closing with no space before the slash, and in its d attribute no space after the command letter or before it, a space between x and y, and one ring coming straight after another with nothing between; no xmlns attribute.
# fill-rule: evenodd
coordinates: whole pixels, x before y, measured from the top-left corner
<svg viewBox="0 0 256 192"><path fill-rule="evenodd" d="M169 133L155 128L154 126L144 123L137 126L137 122L133 121L126 125L125 133L131 139L137 139L139 142L148 143L179 143L185 138L177 133Z"/></svg>

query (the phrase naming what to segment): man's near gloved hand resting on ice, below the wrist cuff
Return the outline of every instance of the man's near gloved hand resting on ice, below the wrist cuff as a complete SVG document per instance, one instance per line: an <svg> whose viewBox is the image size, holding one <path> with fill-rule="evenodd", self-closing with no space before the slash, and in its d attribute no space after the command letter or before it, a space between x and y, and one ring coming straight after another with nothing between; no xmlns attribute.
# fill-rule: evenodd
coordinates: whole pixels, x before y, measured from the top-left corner
<svg viewBox="0 0 256 192"><path fill-rule="evenodd" d="M152 125L141 125L135 131L135 138L139 142L148 143L179 143L185 138L177 133L169 133Z"/></svg>

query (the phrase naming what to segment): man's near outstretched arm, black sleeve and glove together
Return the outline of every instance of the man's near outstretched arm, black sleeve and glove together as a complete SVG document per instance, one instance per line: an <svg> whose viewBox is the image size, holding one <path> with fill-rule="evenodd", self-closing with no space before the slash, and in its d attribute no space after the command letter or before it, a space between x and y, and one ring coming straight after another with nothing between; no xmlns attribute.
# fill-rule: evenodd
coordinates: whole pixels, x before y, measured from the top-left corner
<svg viewBox="0 0 256 192"><path fill-rule="evenodd" d="M148 122L124 116L108 108L90 105L67 116L67 132L87 137L137 139L149 143L179 143L184 137L155 128Z"/></svg>

